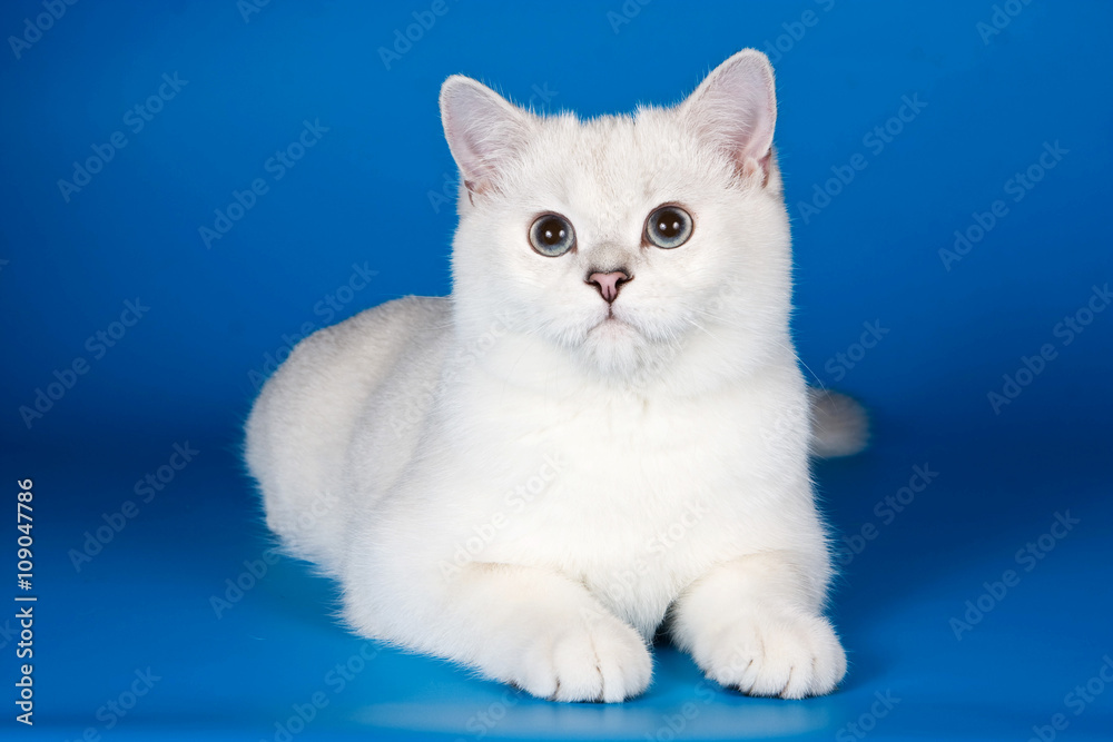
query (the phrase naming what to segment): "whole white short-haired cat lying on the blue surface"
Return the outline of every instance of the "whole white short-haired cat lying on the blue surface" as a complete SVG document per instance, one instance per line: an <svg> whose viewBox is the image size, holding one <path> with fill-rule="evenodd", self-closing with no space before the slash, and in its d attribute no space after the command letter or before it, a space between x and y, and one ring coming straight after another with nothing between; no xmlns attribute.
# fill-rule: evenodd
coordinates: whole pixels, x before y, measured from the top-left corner
<svg viewBox="0 0 1113 742"><path fill-rule="evenodd" d="M452 295L323 329L266 384L267 524L356 632L538 696L641 693L661 625L722 685L831 691L808 454L865 418L809 393L789 336L769 61L590 121L454 76L441 112Z"/></svg>

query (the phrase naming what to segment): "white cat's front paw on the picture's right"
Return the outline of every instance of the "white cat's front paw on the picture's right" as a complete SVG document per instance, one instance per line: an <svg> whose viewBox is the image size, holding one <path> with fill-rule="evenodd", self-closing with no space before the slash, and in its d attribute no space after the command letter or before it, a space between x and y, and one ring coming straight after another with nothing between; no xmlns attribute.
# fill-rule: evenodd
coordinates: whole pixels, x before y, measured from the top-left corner
<svg viewBox="0 0 1113 742"><path fill-rule="evenodd" d="M821 616L747 616L721 630L709 649L700 662L707 676L747 695L824 695L846 674L846 653Z"/></svg>

